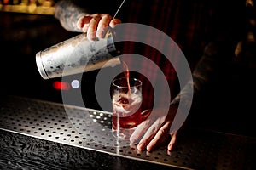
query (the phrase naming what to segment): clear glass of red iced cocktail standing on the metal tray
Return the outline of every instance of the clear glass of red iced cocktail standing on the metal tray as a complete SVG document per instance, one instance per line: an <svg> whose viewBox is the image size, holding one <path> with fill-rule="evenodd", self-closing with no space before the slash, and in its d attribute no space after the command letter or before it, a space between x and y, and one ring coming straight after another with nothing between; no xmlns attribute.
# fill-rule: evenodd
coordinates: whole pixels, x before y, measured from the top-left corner
<svg viewBox="0 0 256 170"><path fill-rule="evenodd" d="M120 139L129 139L142 122L142 82L126 77L113 81L113 132Z"/></svg>

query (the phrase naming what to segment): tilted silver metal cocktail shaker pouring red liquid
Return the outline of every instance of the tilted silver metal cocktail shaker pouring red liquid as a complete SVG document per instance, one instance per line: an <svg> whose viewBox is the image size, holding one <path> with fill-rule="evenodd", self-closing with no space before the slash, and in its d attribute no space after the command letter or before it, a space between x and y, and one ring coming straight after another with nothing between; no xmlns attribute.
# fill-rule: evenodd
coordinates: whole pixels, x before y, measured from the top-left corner
<svg viewBox="0 0 256 170"><path fill-rule="evenodd" d="M82 33L38 52L36 63L40 75L49 79L119 65L117 54L112 31L93 41Z"/></svg>

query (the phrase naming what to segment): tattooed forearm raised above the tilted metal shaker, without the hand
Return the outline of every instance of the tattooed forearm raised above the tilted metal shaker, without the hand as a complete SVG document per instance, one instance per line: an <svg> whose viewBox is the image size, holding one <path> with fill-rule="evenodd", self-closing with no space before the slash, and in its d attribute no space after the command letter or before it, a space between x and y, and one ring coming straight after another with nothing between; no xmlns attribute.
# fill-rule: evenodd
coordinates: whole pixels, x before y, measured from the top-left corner
<svg viewBox="0 0 256 170"><path fill-rule="evenodd" d="M88 10L80 8L72 0L61 0L55 3L55 18L60 20L61 26L67 31L82 32L77 27L77 21L85 14L89 14Z"/></svg>

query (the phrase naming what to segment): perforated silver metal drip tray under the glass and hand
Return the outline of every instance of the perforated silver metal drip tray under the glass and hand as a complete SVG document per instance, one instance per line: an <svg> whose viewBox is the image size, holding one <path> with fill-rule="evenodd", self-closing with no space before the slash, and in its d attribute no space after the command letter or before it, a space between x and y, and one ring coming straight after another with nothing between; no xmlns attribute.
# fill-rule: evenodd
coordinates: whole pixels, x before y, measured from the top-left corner
<svg viewBox="0 0 256 170"><path fill-rule="evenodd" d="M116 141L111 114L73 105L9 96L0 104L0 128L39 139L184 169L255 169L256 139L192 129L172 153Z"/></svg>

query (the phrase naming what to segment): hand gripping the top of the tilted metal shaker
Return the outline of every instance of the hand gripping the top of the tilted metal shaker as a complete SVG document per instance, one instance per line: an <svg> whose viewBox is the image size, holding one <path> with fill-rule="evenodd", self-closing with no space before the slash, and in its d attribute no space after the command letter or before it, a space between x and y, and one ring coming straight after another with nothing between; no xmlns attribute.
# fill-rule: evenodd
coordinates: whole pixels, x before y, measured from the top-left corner
<svg viewBox="0 0 256 170"><path fill-rule="evenodd" d="M113 19L109 14L86 14L79 18L77 26L87 33L89 39L94 40L96 37L104 37L108 26L114 28L120 23L121 20Z"/></svg>

